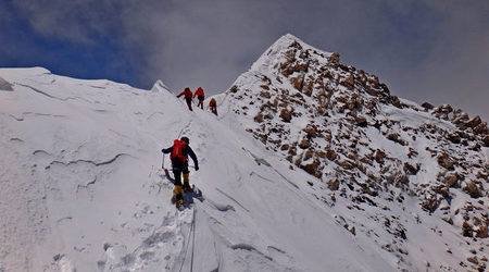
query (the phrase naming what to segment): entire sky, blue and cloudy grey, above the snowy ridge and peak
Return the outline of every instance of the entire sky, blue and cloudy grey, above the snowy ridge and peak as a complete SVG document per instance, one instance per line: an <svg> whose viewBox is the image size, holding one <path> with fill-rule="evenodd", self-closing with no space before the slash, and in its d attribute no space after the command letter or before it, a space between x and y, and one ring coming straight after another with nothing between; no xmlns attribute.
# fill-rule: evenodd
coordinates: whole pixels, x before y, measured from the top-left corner
<svg viewBox="0 0 489 272"><path fill-rule="evenodd" d="M215 94L286 33L489 120L487 0L0 0L0 66Z"/></svg>

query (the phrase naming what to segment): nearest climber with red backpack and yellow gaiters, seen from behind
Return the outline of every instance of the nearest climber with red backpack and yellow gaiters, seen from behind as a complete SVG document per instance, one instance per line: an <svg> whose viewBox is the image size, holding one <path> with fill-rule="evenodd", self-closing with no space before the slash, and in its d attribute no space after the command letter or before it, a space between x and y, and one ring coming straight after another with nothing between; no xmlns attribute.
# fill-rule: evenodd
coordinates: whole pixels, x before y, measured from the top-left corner
<svg viewBox="0 0 489 272"><path fill-rule="evenodd" d="M197 156L189 146L190 140L187 137L181 137L180 139L175 139L173 146L164 148L161 151L163 153L170 153L170 160L172 161L172 172L175 177L175 187L173 189L172 201L181 201L184 198L184 190L191 191L189 184L189 173L188 170L188 156L193 161L196 171L199 170L199 162L197 161ZM184 175L184 184L181 184L181 175Z"/></svg>

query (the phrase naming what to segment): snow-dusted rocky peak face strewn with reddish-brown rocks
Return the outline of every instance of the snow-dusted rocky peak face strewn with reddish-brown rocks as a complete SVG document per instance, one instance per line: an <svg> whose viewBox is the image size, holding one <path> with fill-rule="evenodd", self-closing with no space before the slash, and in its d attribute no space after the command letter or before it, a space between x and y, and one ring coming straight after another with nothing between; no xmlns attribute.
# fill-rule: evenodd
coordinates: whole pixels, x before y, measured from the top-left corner
<svg viewBox="0 0 489 272"><path fill-rule="evenodd" d="M392 96L291 35L218 99L223 120L308 172L313 196L397 268L486 268L489 131L478 116Z"/></svg>

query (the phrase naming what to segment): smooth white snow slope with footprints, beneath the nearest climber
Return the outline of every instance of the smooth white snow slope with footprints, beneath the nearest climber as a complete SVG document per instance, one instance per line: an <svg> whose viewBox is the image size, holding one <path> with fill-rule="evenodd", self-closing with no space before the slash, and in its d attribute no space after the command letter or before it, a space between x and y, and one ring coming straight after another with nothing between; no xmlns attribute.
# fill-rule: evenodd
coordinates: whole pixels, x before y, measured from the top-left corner
<svg viewBox="0 0 489 272"><path fill-rule="evenodd" d="M398 267L343 227L315 178L235 123L189 112L162 83L148 91L43 69L0 77L12 88L0 91L0 271ZM183 135L204 200L177 211L160 150Z"/></svg>

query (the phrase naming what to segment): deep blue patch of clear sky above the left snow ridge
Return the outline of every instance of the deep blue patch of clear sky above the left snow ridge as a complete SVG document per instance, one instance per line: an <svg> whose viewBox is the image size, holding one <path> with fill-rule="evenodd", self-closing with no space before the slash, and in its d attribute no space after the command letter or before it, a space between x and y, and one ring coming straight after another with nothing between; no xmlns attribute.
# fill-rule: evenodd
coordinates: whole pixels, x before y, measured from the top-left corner
<svg viewBox="0 0 489 272"><path fill-rule="evenodd" d="M90 42L45 35L11 1L1 2L0 7L0 14L9 13L4 18L9 27L2 27L0 33L0 40L8 42L7 48L0 49L0 66L43 66L61 75L145 85L138 79L137 65L125 58L133 52L120 46L117 33L93 37Z"/></svg>

